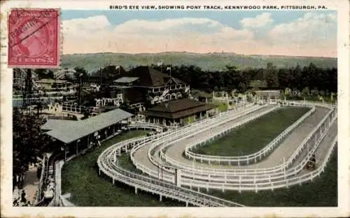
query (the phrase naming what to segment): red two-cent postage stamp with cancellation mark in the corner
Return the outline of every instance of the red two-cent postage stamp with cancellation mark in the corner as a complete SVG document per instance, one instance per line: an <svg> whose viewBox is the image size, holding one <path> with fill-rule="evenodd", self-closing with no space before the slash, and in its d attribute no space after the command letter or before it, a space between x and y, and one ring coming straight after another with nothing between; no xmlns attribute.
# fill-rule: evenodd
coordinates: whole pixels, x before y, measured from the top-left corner
<svg viewBox="0 0 350 218"><path fill-rule="evenodd" d="M59 66L59 9L15 8L8 17L8 66Z"/></svg>

